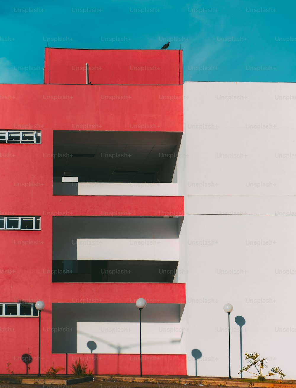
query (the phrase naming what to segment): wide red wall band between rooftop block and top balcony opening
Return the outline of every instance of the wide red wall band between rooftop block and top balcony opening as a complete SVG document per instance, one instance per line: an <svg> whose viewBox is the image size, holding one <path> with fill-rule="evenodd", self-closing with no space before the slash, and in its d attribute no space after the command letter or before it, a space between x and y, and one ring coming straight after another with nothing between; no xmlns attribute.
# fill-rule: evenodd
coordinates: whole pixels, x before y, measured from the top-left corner
<svg viewBox="0 0 296 388"><path fill-rule="evenodd" d="M183 131L183 87L0 85L0 128Z"/></svg>

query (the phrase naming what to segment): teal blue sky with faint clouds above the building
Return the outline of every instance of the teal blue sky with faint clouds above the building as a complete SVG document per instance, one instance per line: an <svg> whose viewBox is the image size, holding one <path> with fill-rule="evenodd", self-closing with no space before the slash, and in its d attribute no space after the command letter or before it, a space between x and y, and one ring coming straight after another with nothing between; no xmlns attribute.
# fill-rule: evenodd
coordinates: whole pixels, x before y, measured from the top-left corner
<svg viewBox="0 0 296 388"><path fill-rule="evenodd" d="M295 82L296 2L51 0L1 7L0 83L42 83L47 45L160 49L167 41L169 49L181 44L184 81Z"/></svg>

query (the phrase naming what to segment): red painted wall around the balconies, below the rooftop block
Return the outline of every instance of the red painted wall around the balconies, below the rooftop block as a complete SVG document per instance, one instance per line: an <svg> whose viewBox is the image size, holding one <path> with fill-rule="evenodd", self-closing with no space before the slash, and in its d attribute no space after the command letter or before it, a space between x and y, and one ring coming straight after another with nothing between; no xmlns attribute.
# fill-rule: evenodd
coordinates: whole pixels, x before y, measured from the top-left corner
<svg viewBox="0 0 296 388"><path fill-rule="evenodd" d="M71 297L134 303L129 301L132 291L135 298L145 296L149 303L185 303L184 284L51 283L52 217L184 215L181 196L53 196L53 130L182 132L182 85L14 84L0 85L0 94L7 97L0 102L0 129L42 131L42 144L0 144L0 215L41 216L40 231L0 230L0 303L45 302L41 313L44 372L53 362L65 366L65 355L51 353L53 302L69 302ZM0 336L0 373L7 372L7 362L15 373L24 373L24 353L33 357L30 373L38 372L38 318L1 317ZM138 373L138 355L134 361L129 355L100 357L102 362L95 365L100 373ZM160 360L143 360L144 374L186 374L186 355L156 357Z"/></svg>

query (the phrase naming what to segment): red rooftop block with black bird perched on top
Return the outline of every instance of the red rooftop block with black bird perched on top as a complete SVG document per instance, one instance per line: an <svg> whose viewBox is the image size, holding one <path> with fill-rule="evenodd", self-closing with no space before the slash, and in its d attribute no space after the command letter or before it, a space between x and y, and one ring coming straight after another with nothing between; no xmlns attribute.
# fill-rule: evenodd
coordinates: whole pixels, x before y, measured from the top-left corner
<svg viewBox="0 0 296 388"><path fill-rule="evenodd" d="M182 85L182 50L45 49L45 83Z"/></svg>

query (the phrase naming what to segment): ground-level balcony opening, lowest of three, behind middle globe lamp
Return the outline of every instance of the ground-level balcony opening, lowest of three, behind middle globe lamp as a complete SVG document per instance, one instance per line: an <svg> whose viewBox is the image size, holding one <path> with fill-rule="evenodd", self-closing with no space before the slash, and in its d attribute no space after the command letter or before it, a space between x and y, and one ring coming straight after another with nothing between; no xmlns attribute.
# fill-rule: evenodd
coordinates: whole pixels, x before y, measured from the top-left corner
<svg viewBox="0 0 296 388"><path fill-rule="evenodd" d="M134 295L131 294L131 301ZM83 303L82 303L83 302ZM147 303L142 314L143 353L182 354L184 305ZM102 303L72 297L72 303L52 303L52 353L139 352L139 310L134 303Z"/></svg>

